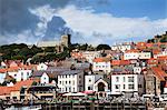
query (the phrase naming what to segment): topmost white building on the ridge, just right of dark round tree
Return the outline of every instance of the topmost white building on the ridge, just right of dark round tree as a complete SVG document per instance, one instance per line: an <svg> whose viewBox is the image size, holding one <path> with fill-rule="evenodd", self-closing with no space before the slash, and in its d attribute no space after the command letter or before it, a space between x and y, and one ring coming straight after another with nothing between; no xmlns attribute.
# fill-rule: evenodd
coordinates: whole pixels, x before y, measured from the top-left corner
<svg viewBox="0 0 167 110"><path fill-rule="evenodd" d="M130 49L131 49L131 44L116 44L111 47L111 50L120 50L122 52Z"/></svg>

